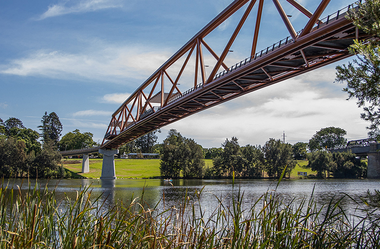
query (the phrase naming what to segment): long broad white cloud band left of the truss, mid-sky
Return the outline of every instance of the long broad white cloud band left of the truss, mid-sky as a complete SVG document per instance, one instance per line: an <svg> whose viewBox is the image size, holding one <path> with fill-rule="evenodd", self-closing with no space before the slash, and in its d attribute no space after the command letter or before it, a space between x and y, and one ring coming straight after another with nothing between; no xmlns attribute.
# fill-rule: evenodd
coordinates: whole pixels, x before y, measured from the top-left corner
<svg viewBox="0 0 380 249"><path fill-rule="evenodd" d="M168 52L133 45L90 46L87 51L77 54L40 50L14 59L8 65L0 65L0 73L125 83L128 78L145 80L169 56Z"/></svg>

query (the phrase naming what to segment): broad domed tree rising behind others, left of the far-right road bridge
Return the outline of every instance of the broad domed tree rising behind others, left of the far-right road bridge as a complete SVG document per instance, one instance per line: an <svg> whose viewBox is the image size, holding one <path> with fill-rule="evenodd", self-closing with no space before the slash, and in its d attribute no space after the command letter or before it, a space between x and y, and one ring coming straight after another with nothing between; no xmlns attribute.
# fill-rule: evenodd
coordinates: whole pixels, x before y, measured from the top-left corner
<svg viewBox="0 0 380 249"><path fill-rule="evenodd" d="M347 139L344 136L347 132L340 128L328 127L320 129L314 136L309 140L309 150L314 152L316 150L330 149L336 147L345 146Z"/></svg>

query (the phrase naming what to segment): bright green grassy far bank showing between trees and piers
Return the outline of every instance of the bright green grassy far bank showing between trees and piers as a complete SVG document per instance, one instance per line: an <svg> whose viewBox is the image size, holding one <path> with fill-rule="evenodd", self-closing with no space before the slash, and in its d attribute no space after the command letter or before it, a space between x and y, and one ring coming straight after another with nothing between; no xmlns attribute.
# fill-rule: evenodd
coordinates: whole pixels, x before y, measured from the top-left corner
<svg viewBox="0 0 380 249"><path fill-rule="evenodd" d="M90 172L81 173L82 159L62 159L66 171L71 172L72 178L100 178L102 174L101 158L90 158ZM75 163L78 161L77 163ZM298 161L293 169L290 178L301 178L298 172L306 172L308 176L316 175L311 169L306 168L308 161ZM212 168L213 160L206 159L205 167ZM159 178L160 160L159 159L115 159L116 177L121 179L128 178Z"/></svg>

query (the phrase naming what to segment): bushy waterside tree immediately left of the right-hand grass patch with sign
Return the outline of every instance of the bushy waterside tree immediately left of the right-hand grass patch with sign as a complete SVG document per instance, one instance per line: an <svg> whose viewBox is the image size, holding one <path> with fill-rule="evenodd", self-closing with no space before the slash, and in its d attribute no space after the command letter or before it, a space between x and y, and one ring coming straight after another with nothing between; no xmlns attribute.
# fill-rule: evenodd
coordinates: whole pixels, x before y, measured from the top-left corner
<svg viewBox="0 0 380 249"><path fill-rule="evenodd" d="M269 139L262 147L265 158L265 170L269 177L279 178L285 167L289 174L294 169L297 161L293 158L292 146L281 140Z"/></svg>

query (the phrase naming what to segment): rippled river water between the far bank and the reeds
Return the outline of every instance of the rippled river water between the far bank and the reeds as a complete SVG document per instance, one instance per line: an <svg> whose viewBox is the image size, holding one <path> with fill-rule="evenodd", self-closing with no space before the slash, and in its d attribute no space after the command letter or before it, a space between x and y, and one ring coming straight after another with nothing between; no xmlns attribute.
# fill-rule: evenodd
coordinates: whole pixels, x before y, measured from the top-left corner
<svg viewBox="0 0 380 249"><path fill-rule="evenodd" d="M35 185L36 180L30 180L30 185ZM9 187L21 186L22 191L26 191L29 186L27 180L12 179L4 182ZM250 208L260 196L265 192L280 195L280 198L287 202L293 198L309 198L312 193L318 206L328 204L332 198L339 198L345 194L354 200L366 195L367 190L380 190L380 180L374 179L286 179L282 180L276 190L277 181L270 179L236 179L234 184L231 179L218 180L173 180L172 184L164 182L162 179L62 179L62 180L37 180L40 188L53 190L55 188L56 199L63 199L65 195L75 198L77 191L89 186L93 198L101 196L106 206L129 203L132 199L142 197L150 208L158 203L158 208L168 209L179 206L184 198L188 196L190 201L200 204L205 214L211 214L219 202L228 205L232 195L237 195L238 191L243 194L243 207ZM274 191L276 190L276 191ZM313 192L314 190L314 192ZM201 192L199 198L197 192ZM357 204L351 198L345 198L341 202L344 210L354 214Z"/></svg>

